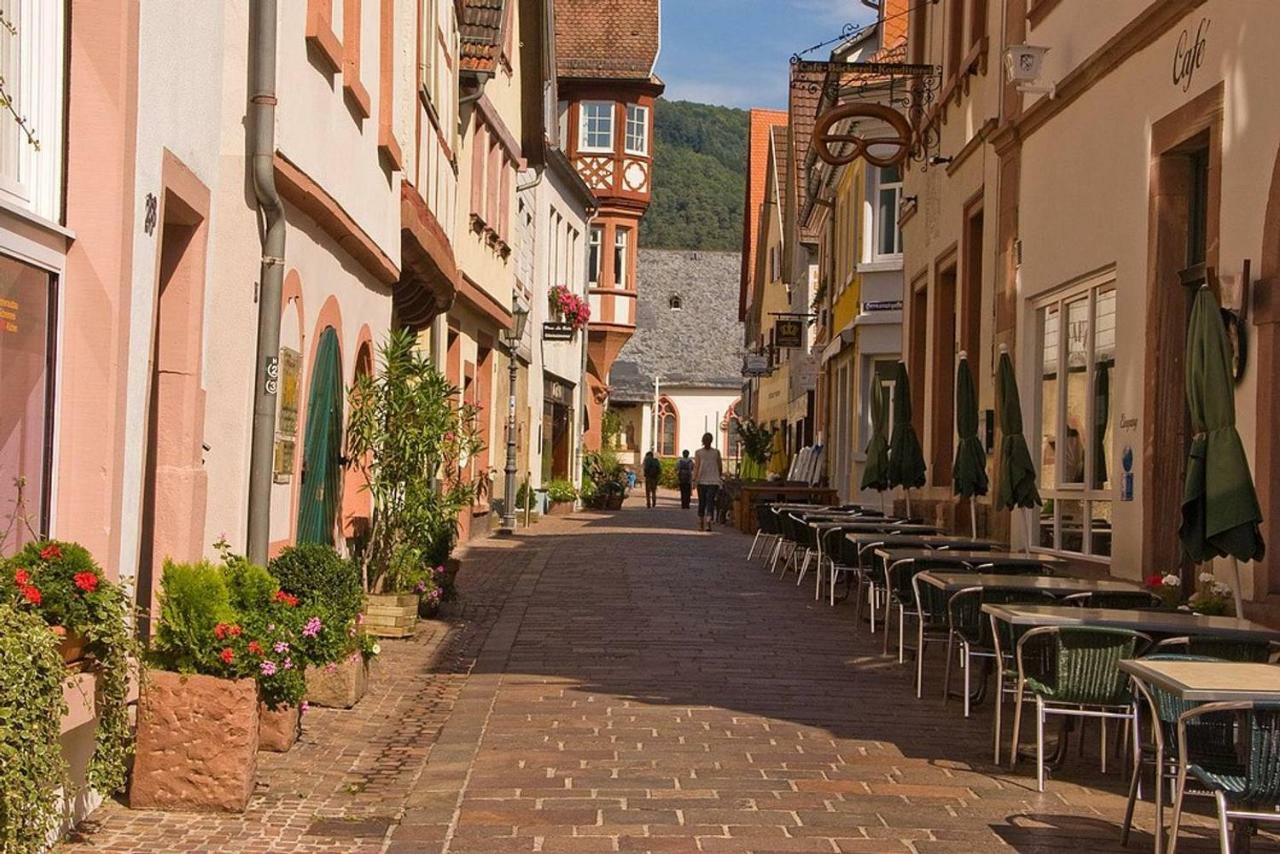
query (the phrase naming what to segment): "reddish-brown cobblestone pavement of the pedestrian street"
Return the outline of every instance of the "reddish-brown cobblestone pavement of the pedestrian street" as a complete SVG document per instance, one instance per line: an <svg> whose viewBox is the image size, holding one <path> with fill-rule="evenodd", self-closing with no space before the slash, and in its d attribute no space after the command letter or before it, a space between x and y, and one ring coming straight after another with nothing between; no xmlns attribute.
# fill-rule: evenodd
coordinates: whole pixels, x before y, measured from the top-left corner
<svg viewBox="0 0 1280 854"><path fill-rule="evenodd" d="M1126 850L1096 730L1038 794L1025 764L991 764L989 709L943 708L941 668L916 700L851 608L671 497L628 504L472 545L447 622L384 643L355 711L264 755L244 816L110 804L67 850ZM1140 804L1128 850L1151 850L1152 818ZM1179 850L1217 850L1190 823Z"/></svg>

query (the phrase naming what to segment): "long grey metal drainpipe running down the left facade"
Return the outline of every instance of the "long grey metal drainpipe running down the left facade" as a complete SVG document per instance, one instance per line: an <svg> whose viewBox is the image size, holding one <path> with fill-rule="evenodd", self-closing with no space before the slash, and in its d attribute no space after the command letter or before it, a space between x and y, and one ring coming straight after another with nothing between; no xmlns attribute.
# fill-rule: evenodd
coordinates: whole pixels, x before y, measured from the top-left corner
<svg viewBox="0 0 1280 854"><path fill-rule="evenodd" d="M275 397L279 387L280 292L284 283L284 204L275 189L275 14L276 0L252 4L250 69L250 169L262 216L262 266L259 273L257 355L253 360L253 434L248 463L248 548L252 562L266 566L271 531L271 469L275 446Z"/></svg>

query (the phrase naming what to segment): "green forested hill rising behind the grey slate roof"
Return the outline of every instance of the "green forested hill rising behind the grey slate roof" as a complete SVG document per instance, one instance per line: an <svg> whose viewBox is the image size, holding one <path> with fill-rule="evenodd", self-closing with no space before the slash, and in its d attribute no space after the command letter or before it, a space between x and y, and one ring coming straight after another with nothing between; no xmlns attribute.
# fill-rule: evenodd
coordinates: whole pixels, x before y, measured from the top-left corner
<svg viewBox="0 0 1280 854"><path fill-rule="evenodd" d="M653 202L640 227L641 247L741 248L746 124L746 110L658 101Z"/></svg>

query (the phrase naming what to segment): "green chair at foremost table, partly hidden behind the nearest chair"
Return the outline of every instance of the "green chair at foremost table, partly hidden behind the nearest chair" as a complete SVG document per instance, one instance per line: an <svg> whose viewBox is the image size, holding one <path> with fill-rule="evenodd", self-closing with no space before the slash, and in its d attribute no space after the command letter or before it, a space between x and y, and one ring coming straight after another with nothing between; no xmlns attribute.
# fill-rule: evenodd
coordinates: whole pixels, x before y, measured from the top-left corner
<svg viewBox="0 0 1280 854"><path fill-rule="evenodd" d="M1160 645L1156 645L1160 649ZM1219 661L1210 656L1184 656L1178 653L1153 652L1143 656L1143 661ZM1152 767L1156 771L1156 854L1164 850L1162 837L1165 831L1165 784L1175 782L1178 777L1178 718L1196 703L1179 699L1175 694L1166 691L1158 685L1151 685L1142 680L1133 680L1138 689L1138 695L1144 700L1143 705L1151 712L1151 744L1138 745L1138 761L1133 767L1133 777L1129 780L1129 804L1125 808L1124 825L1120 831L1120 844L1129 844L1129 830L1133 826L1133 810L1138 802L1138 785L1142 778L1142 768ZM1221 717L1206 717L1188 730L1188 744L1202 757L1216 757L1215 766L1231 764L1235 759L1235 749L1231 744L1231 721Z"/></svg>

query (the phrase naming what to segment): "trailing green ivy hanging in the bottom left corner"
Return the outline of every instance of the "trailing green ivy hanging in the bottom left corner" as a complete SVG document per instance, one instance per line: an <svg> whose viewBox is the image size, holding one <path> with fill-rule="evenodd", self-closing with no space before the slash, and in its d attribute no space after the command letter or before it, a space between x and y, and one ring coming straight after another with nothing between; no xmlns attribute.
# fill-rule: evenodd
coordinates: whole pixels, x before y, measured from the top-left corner
<svg viewBox="0 0 1280 854"><path fill-rule="evenodd" d="M67 668L40 616L0 603L0 851L40 851L67 778Z"/></svg>

